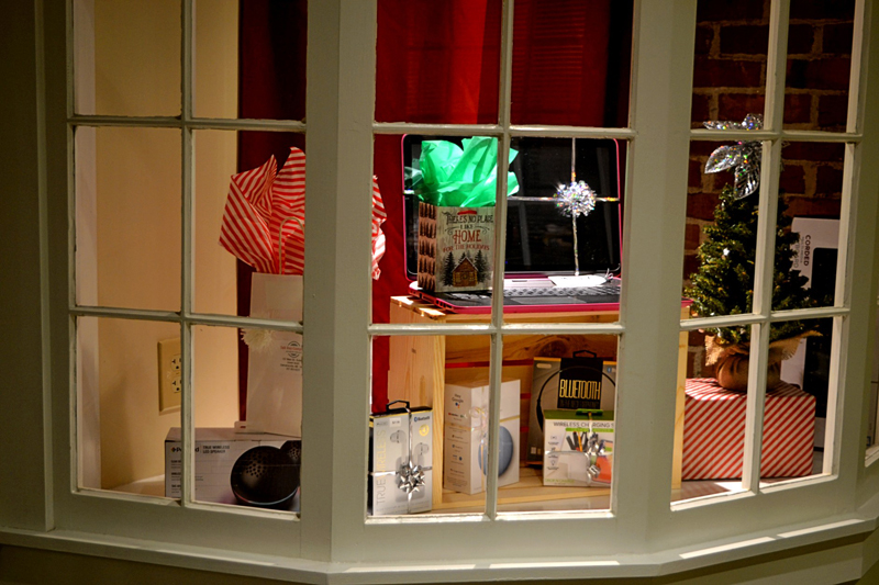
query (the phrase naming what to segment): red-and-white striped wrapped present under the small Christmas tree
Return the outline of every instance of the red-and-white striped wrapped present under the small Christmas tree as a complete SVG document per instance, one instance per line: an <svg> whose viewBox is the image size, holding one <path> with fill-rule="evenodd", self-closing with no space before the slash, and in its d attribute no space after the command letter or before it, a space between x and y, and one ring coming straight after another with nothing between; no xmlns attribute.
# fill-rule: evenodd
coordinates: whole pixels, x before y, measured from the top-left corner
<svg viewBox="0 0 879 585"><path fill-rule="evenodd" d="M742 477L745 402L744 393L725 390L713 378L687 380L683 480ZM760 476L810 475L814 426L814 396L785 383L767 392Z"/></svg>

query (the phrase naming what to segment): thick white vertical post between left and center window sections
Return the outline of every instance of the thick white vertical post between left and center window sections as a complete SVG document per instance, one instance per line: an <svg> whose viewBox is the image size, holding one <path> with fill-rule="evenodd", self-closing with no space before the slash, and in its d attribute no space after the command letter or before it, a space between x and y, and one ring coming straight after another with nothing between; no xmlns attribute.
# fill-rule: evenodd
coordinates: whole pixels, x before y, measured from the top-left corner
<svg viewBox="0 0 879 585"><path fill-rule="evenodd" d="M366 538L376 14L376 0L308 11L301 527L315 560Z"/></svg>

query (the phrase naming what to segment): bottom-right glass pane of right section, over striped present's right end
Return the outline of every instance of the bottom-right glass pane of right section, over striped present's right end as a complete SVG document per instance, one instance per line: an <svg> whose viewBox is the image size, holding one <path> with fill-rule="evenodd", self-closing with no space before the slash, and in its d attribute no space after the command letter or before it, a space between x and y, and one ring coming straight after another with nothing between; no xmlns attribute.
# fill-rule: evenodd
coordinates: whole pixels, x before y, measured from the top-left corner
<svg viewBox="0 0 879 585"><path fill-rule="evenodd" d="M835 408L828 406L836 402L836 382L830 379L833 319L776 323L769 337L760 479L771 483L830 472L823 459L833 442L826 429Z"/></svg>

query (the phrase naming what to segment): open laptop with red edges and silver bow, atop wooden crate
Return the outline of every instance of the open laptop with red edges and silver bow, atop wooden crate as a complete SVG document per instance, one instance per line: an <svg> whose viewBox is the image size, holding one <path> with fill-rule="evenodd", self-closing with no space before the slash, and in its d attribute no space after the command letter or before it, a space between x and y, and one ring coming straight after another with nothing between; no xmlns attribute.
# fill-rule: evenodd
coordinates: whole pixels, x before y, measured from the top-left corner
<svg viewBox="0 0 879 585"><path fill-rule="evenodd" d="M418 168L424 140L461 137L405 135L403 169ZM521 137L512 140L518 156L510 165L519 192L508 198L504 265L504 312L617 311L621 268L621 149L614 139ZM556 206L559 184L571 179L596 191L599 201L577 218L579 277L575 278L574 228ZM419 200L403 173L405 269L410 293L452 313L491 311L491 291L434 292L416 284Z"/></svg>

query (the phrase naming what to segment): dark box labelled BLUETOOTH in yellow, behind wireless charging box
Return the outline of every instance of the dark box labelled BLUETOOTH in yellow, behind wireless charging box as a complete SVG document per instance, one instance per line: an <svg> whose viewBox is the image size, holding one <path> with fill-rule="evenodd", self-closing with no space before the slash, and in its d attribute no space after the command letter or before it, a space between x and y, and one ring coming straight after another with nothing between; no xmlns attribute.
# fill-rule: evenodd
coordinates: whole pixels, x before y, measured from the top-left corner
<svg viewBox="0 0 879 585"><path fill-rule="evenodd" d="M534 358L525 462L543 464L544 412L568 408L613 410L616 362L600 358ZM598 392L596 392L598 390Z"/></svg>

